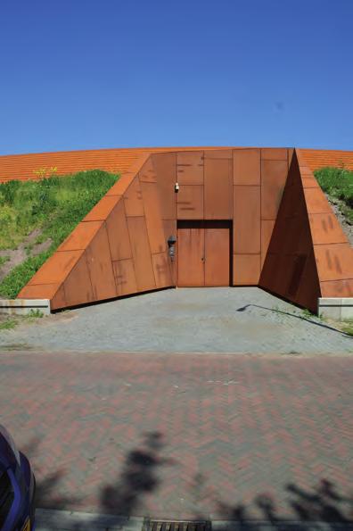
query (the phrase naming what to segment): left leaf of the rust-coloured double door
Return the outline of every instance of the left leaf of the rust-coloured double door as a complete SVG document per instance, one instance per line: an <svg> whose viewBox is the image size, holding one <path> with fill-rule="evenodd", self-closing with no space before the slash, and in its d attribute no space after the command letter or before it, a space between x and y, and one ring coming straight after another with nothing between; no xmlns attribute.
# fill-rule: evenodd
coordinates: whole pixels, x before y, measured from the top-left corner
<svg viewBox="0 0 353 531"><path fill-rule="evenodd" d="M202 223L177 229L177 286L204 286L205 237Z"/></svg>

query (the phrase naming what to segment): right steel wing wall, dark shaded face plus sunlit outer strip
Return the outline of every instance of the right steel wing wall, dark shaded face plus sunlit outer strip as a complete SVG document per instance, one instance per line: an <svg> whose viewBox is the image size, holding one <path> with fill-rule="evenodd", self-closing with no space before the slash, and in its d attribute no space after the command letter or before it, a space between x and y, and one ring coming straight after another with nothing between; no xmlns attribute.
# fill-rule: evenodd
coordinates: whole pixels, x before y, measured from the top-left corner
<svg viewBox="0 0 353 531"><path fill-rule="evenodd" d="M304 157L297 153L291 159L259 286L316 311L320 296L353 295L353 249Z"/></svg>

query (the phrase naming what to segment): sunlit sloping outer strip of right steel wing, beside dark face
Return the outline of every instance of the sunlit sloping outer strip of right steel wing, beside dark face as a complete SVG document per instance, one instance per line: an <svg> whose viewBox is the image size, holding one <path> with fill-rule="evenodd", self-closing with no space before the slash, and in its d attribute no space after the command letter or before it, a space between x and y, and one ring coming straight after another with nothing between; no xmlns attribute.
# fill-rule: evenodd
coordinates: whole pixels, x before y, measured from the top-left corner
<svg viewBox="0 0 353 531"><path fill-rule="evenodd" d="M300 149L300 178L322 297L353 297L353 248Z"/></svg>

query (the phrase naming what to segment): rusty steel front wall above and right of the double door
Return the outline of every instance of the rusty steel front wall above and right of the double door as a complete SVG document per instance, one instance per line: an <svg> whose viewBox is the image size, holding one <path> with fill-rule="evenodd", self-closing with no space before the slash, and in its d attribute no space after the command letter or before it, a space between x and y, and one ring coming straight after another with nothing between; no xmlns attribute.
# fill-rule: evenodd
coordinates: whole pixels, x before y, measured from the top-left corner
<svg viewBox="0 0 353 531"><path fill-rule="evenodd" d="M176 220L234 221L233 284L258 285L291 152L237 148L153 153L166 236L176 235ZM177 278L176 270L173 275Z"/></svg>

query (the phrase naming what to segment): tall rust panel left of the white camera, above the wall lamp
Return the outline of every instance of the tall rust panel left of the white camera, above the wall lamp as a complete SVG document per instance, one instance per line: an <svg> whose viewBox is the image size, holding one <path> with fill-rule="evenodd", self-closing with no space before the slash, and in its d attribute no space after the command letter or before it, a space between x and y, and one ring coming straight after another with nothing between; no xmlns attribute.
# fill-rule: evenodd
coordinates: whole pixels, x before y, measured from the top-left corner
<svg viewBox="0 0 353 531"><path fill-rule="evenodd" d="M160 207L163 220L176 220L176 153L152 155L160 192Z"/></svg>

